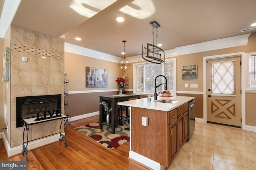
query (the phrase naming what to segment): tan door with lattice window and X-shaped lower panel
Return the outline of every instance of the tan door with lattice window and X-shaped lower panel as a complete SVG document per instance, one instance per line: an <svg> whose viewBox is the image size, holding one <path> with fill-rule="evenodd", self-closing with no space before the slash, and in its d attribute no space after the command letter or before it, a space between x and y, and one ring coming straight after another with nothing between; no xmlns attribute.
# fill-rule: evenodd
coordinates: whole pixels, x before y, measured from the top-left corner
<svg viewBox="0 0 256 170"><path fill-rule="evenodd" d="M241 57L206 61L207 122L241 127Z"/></svg>

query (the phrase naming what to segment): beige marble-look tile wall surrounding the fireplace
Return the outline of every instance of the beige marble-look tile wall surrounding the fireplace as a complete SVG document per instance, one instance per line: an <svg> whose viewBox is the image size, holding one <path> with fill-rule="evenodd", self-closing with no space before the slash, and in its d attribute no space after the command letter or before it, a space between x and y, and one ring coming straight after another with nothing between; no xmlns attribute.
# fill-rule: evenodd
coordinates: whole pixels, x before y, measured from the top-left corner
<svg viewBox="0 0 256 170"><path fill-rule="evenodd" d="M11 25L10 37L12 46L22 45L26 50L33 48L63 55L63 57L46 55L44 59L41 56L42 52L31 54L21 49L12 49L10 55L10 146L13 148L22 145L24 129L23 127L16 128L16 97L62 94L62 113L64 113L64 39L50 37L50 35L15 25ZM22 61L22 57L27 57L28 61ZM59 132L59 125L60 120L32 125L28 131L28 139L34 140Z"/></svg>

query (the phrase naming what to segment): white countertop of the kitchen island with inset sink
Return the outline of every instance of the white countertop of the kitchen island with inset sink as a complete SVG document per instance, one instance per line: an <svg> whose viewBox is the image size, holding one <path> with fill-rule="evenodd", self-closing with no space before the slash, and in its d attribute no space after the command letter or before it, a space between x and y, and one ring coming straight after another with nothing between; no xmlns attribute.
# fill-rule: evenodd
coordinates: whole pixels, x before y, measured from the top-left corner
<svg viewBox="0 0 256 170"><path fill-rule="evenodd" d="M161 102L154 102L154 96L151 96L151 102L148 102L147 98L136 99L136 100L129 100L125 102L118 102L118 105L123 106L132 106L132 107L140 107L144 109L153 109L153 110L161 110L161 111L171 111L182 104L193 100L194 97L187 97L187 96L173 96L173 97L160 97L157 96L157 100L179 100L179 102L175 104L169 103L161 103Z"/></svg>

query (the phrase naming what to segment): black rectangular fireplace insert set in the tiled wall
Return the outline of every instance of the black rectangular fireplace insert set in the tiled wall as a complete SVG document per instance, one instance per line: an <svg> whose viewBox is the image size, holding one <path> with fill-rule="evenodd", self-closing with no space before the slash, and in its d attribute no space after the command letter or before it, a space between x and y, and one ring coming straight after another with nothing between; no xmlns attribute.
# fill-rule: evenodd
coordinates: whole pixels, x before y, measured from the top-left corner
<svg viewBox="0 0 256 170"><path fill-rule="evenodd" d="M16 97L16 127L22 127L23 119L35 121L61 114L61 94Z"/></svg>

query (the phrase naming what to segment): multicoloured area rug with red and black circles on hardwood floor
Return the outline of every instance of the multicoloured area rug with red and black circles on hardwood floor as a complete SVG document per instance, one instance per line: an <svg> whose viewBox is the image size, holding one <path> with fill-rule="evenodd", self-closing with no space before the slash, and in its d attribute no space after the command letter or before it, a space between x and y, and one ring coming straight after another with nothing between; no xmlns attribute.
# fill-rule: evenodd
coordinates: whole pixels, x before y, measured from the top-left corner
<svg viewBox="0 0 256 170"><path fill-rule="evenodd" d="M74 129L111 150L130 141L130 124L128 121L124 121L123 125L118 125L115 134L111 133L111 127L106 125L103 125L102 129L99 127L99 122L96 122Z"/></svg>

